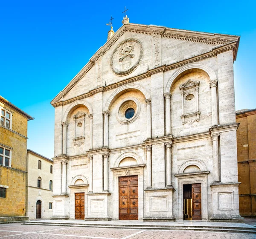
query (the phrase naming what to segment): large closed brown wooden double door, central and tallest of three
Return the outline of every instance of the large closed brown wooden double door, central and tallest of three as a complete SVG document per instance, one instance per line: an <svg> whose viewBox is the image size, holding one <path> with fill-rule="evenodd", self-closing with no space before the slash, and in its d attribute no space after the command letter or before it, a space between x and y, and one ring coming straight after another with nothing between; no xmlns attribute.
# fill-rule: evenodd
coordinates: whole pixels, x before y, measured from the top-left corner
<svg viewBox="0 0 256 239"><path fill-rule="evenodd" d="M138 176L119 177L119 220L138 220Z"/></svg>

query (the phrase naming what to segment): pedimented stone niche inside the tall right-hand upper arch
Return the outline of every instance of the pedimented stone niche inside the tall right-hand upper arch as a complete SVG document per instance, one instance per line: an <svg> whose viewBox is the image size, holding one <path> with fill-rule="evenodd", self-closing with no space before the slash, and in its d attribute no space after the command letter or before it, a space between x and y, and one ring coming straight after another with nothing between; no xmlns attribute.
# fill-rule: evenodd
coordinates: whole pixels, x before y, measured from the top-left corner
<svg viewBox="0 0 256 239"><path fill-rule="evenodd" d="M200 81L188 80L180 86L181 93L181 107L182 124L192 125L195 121L199 121L199 100L198 89Z"/></svg>

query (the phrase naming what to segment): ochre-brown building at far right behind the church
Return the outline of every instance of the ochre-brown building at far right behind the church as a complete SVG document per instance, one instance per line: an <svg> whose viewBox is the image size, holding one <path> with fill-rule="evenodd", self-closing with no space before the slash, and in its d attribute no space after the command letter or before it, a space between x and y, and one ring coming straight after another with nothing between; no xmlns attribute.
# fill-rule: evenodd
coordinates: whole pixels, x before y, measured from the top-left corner
<svg viewBox="0 0 256 239"><path fill-rule="evenodd" d="M236 111L236 122L240 213L256 217L256 109Z"/></svg>

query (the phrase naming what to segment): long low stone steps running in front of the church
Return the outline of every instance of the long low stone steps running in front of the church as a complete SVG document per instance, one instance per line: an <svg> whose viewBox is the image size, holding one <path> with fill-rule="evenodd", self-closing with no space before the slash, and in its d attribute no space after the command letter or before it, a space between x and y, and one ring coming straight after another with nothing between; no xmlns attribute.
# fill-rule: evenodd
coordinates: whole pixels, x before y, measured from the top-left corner
<svg viewBox="0 0 256 239"><path fill-rule="evenodd" d="M57 223L57 222L25 222L22 225L47 225L62 227L88 227L88 228L113 228L113 229L139 229L139 230L192 230L192 231L212 231L230 233L255 233L256 228L250 227L224 227L224 226L188 226L188 225L104 225L104 224L84 224L84 223Z"/></svg>

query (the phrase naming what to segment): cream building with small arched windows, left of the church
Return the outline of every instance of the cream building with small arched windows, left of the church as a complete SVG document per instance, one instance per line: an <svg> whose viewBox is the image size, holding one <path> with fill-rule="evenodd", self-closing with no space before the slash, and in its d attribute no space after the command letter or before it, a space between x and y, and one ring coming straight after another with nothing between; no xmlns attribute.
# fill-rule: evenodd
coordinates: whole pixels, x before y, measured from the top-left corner
<svg viewBox="0 0 256 239"><path fill-rule="evenodd" d="M29 220L50 218L53 211L53 161L27 150L27 211Z"/></svg>

